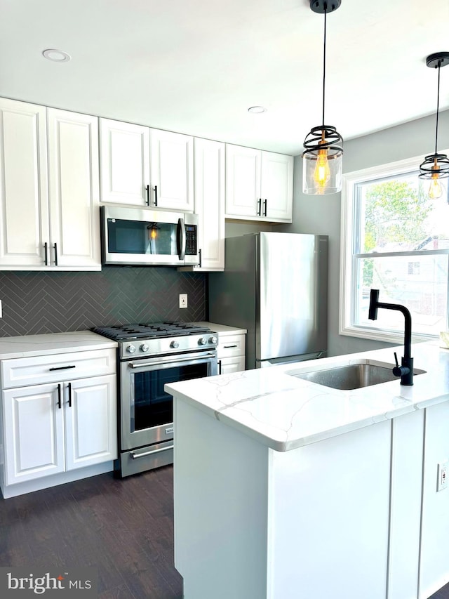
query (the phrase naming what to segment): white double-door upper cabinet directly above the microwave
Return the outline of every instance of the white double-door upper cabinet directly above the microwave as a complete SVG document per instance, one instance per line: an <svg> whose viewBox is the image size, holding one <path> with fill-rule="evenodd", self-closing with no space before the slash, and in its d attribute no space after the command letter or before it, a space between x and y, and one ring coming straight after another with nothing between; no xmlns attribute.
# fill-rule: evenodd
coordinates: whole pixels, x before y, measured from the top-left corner
<svg viewBox="0 0 449 599"><path fill-rule="evenodd" d="M193 212L193 138L100 119L102 202Z"/></svg>

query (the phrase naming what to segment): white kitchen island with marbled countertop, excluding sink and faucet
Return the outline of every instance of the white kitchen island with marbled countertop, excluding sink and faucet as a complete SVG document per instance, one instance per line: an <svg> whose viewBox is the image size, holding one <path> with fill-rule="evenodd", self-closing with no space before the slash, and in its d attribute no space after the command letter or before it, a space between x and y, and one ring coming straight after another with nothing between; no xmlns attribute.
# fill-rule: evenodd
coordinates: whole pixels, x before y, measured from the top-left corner
<svg viewBox="0 0 449 599"><path fill-rule="evenodd" d="M297 376L402 349L166 386L185 599L424 599L449 581L449 350L413 345L411 387Z"/></svg>

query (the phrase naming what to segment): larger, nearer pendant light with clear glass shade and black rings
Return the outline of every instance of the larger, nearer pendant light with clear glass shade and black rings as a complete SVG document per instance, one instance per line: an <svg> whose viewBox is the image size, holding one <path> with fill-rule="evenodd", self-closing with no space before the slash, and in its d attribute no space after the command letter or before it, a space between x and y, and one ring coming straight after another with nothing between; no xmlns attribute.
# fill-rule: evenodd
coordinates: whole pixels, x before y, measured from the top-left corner
<svg viewBox="0 0 449 599"><path fill-rule="evenodd" d="M341 0L310 0L314 13L324 14L323 119L304 140L302 152L302 190L310 195L339 192L342 189L343 138L335 127L324 124L326 86L326 15L336 11Z"/></svg>

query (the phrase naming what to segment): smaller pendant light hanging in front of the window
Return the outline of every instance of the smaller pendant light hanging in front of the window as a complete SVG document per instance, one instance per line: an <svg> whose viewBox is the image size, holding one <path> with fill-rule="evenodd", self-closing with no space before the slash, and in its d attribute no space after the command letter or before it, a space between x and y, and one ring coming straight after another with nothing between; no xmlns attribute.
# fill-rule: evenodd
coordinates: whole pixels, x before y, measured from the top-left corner
<svg viewBox="0 0 449 599"><path fill-rule="evenodd" d="M438 154L438 110L440 107L440 69L449 64L449 52L437 52L427 56L426 64L431 69L438 69L438 92L436 96L436 131L435 131L435 153L429 154L420 164L421 179L430 179L429 197L436 199L441 197L441 179L449 177L449 159L446 154Z"/></svg>

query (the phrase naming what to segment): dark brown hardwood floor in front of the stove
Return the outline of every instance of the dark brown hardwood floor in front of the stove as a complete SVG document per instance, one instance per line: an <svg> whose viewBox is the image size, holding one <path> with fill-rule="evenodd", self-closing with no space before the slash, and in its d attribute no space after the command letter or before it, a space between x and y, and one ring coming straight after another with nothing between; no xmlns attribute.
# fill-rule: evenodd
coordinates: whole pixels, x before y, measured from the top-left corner
<svg viewBox="0 0 449 599"><path fill-rule="evenodd" d="M0 566L94 566L99 599L181 599L173 565L173 467L0 499ZM334 591L332 599L344 598ZM431 599L449 599L449 584Z"/></svg>

